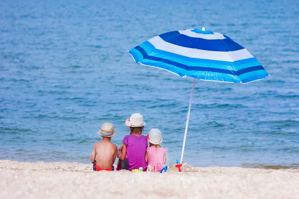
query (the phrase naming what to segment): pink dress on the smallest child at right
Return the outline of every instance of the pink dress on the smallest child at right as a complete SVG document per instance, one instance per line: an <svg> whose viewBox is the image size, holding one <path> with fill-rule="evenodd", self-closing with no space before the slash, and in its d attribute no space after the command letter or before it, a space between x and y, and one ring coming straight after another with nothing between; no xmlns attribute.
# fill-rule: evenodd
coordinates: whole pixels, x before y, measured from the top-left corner
<svg viewBox="0 0 299 199"><path fill-rule="evenodd" d="M160 172L164 168L164 155L167 152L167 148L163 147L148 147L148 166L151 171Z"/></svg>

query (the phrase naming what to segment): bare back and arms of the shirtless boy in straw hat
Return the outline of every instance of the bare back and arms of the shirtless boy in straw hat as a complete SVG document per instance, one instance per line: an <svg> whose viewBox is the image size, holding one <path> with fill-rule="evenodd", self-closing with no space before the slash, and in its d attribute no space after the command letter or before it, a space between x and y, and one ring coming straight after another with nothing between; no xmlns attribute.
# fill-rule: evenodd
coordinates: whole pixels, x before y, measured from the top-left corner
<svg viewBox="0 0 299 199"><path fill-rule="evenodd" d="M116 144L110 141L110 137L103 137L103 140L96 142L92 149L91 162L97 161L97 166L101 169L109 169L112 167L117 152Z"/></svg>

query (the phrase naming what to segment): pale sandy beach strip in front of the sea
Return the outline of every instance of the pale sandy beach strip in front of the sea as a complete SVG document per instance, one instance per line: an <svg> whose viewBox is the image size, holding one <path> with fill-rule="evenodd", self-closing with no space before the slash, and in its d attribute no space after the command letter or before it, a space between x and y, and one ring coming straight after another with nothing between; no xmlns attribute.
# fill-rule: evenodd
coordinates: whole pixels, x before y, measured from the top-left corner
<svg viewBox="0 0 299 199"><path fill-rule="evenodd" d="M178 173L94 172L91 164L0 160L1 199L296 199L299 170L192 167Z"/></svg>

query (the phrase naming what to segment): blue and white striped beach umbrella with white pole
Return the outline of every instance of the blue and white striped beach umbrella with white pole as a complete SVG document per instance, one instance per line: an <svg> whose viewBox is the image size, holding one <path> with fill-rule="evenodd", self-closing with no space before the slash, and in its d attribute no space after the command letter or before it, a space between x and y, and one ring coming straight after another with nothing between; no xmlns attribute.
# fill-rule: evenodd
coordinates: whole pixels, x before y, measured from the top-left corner
<svg viewBox="0 0 299 199"><path fill-rule="evenodd" d="M160 68L180 77L192 77L193 85L181 152L184 148L195 80L249 83L269 74L243 46L224 34L202 29L184 29L155 36L131 49L135 62Z"/></svg>

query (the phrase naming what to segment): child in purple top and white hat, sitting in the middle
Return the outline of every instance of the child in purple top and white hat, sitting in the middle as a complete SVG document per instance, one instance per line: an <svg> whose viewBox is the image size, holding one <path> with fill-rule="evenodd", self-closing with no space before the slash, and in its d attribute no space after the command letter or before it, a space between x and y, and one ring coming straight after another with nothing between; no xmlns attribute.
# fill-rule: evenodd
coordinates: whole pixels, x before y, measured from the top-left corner
<svg viewBox="0 0 299 199"><path fill-rule="evenodd" d="M130 126L130 135L126 135L123 139L123 146L121 146L117 152L119 162L116 170L143 168L147 169L146 162L146 150L148 147L148 139L146 136L141 135L144 129L143 117L139 113L131 115L130 119L127 119L125 124ZM123 164L128 162L128 165Z"/></svg>

